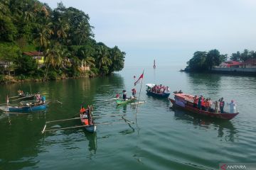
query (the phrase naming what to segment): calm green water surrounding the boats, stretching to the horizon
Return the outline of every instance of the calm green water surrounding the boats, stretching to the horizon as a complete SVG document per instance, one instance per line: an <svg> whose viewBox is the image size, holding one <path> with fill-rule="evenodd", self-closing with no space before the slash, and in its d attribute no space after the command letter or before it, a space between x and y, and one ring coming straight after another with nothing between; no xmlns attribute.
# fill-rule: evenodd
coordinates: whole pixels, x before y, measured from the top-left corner
<svg viewBox="0 0 256 170"><path fill-rule="evenodd" d="M133 77L143 69L140 98L146 103L136 108L104 101L123 89L130 95ZM1 103L18 89L63 102L29 115L0 115L0 169L218 169L222 162L255 162L256 78L178 69L127 67L110 77L0 86ZM224 97L226 103L234 99L240 114L223 121L172 109L167 99L146 96L146 83L213 100ZM136 88L139 95L140 84ZM41 134L46 121L78 117L87 104L94 106L95 122L107 124L97 125L95 134L82 128ZM75 125L80 120L50 123L46 129Z"/></svg>

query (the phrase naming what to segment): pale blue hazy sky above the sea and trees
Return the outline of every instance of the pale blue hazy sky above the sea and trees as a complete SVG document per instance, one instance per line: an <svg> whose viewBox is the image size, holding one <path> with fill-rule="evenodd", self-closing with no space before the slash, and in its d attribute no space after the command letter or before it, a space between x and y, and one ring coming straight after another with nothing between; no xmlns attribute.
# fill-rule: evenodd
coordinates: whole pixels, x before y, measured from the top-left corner
<svg viewBox="0 0 256 170"><path fill-rule="evenodd" d="M55 8L57 0L40 0ZM90 16L95 40L127 52L126 66L186 66L197 50L256 50L255 0L63 0Z"/></svg>

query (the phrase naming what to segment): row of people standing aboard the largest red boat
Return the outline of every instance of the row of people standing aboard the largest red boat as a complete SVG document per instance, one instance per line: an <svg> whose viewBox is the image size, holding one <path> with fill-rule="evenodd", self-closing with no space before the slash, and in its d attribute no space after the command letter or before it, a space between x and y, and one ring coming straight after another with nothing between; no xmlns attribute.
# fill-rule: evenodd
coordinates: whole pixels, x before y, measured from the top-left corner
<svg viewBox="0 0 256 170"><path fill-rule="evenodd" d="M213 102L215 108L211 108L212 106L212 101L210 98L203 98L203 96L194 96L193 97L193 107L198 108L203 111L210 111L210 112L215 112L219 113L218 107L220 107L220 113L224 113L224 106L225 106L225 101L223 98L220 98L218 101ZM228 103L228 106L230 106L230 113L236 113L235 111L235 101L231 101L231 103Z"/></svg>

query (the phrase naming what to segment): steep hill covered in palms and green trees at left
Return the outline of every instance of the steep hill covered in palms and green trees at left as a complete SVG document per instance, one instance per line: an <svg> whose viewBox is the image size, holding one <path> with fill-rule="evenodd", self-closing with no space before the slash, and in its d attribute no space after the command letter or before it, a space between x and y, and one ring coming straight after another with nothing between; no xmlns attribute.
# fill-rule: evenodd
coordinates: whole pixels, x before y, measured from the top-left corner
<svg viewBox="0 0 256 170"><path fill-rule="evenodd" d="M36 0L1 0L0 78L10 72L20 79L56 79L121 70L125 52L96 42L89 21L88 14L62 3L52 9ZM45 57L41 67L33 57L22 55L35 51ZM81 72L82 65L90 71Z"/></svg>

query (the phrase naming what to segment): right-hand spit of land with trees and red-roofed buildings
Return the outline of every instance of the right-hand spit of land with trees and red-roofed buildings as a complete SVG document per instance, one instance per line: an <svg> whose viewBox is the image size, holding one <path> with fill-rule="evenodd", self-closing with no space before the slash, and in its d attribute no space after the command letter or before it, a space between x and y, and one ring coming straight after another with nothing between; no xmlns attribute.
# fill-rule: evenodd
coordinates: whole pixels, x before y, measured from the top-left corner
<svg viewBox="0 0 256 170"><path fill-rule="evenodd" d="M256 52L245 49L243 52L221 55L218 50L194 52L183 72L221 72L256 74Z"/></svg>

